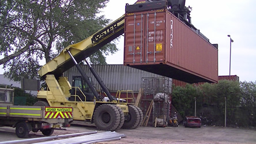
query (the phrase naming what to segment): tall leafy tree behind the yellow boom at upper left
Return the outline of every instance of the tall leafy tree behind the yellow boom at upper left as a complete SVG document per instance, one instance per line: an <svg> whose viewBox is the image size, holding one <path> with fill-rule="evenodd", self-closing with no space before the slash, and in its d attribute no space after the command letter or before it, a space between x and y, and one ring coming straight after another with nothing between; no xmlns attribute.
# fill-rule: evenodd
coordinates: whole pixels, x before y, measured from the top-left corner
<svg viewBox="0 0 256 144"><path fill-rule="evenodd" d="M22 0L0 2L0 59L14 81L35 78L39 60L46 63L69 44L77 43L107 25L96 16L109 0ZM104 56L118 49L109 43L90 56L93 64L106 64Z"/></svg>

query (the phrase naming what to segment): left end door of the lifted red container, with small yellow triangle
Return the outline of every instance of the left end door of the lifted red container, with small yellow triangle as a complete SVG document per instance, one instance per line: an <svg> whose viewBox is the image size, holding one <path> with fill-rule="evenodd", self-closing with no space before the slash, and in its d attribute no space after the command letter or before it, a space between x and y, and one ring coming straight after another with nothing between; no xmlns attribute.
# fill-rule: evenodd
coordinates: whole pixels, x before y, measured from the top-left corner
<svg viewBox="0 0 256 144"><path fill-rule="evenodd" d="M141 63L144 61L144 16L141 13L126 16L125 22L125 62Z"/></svg>

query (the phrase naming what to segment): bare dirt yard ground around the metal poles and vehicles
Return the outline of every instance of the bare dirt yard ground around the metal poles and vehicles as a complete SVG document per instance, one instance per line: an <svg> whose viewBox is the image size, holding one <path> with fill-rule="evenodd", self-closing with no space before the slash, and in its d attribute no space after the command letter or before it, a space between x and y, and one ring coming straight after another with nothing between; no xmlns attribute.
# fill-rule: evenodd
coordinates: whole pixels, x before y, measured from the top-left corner
<svg viewBox="0 0 256 144"><path fill-rule="evenodd" d="M52 135L96 131L94 126L72 125L66 131L55 130ZM103 131L98 131L103 132ZM202 126L201 128L180 127L138 127L135 130L118 130L126 135L119 141L107 143L256 143L256 130ZM29 133L29 138L44 137L41 132ZM0 142L17 138L15 128L0 127ZM106 143L106 142L104 142Z"/></svg>

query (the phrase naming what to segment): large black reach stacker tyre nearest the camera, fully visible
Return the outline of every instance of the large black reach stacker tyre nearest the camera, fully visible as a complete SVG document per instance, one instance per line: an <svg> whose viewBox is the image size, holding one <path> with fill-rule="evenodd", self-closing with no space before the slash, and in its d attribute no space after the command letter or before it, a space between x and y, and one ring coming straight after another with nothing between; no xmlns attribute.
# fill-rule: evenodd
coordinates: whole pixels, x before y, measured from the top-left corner
<svg viewBox="0 0 256 144"><path fill-rule="evenodd" d="M120 124L120 112L116 105L103 104L96 108L93 120L98 130L114 131Z"/></svg>

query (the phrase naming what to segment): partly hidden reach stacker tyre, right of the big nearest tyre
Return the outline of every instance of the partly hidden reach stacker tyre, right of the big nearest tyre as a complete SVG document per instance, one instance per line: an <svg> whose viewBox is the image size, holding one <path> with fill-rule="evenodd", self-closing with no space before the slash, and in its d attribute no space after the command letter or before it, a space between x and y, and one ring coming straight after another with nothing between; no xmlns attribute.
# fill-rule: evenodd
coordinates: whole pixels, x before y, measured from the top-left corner
<svg viewBox="0 0 256 144"><path fill-rule="evenodd" d="M123 123L122 128L124 129L134 129L138 126L140 122L140 112L138 112L137 108L133 105L128 105L129 107L129 114L125 117L125 123Z"/></svg>

